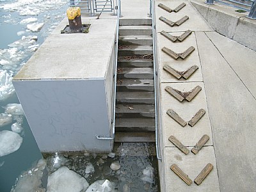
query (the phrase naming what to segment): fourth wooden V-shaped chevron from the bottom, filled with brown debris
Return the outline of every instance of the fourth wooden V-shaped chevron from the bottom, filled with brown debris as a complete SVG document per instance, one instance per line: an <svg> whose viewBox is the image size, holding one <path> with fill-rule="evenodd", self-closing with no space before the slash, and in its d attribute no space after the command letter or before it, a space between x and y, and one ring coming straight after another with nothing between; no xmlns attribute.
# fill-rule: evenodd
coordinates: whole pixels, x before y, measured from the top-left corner
<svg viewBox="0 0 256 192"><path fill-rule="evenodd" d="M173 89L170 86L166 86L165 90L166 92L170 93L170 95L175 97L175 99L179 100L179 102L182 102L184 99L190 102L197 95L197 93L202 90L202 88L200 86L196 86L189 92L180 92L179 90Z"/></svg>

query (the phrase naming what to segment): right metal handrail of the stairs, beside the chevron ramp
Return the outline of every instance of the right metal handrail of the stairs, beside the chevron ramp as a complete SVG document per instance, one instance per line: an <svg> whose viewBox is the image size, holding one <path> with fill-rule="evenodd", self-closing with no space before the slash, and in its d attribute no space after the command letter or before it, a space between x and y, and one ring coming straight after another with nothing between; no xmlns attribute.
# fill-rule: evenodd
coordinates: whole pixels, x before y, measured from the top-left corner
<svg viewBox="0 0 256 192"><path fill-rule="evenodd" d="M153 66L154 66L154 95L155 95L155 131L156 131L156 157L158 160L162 160L159 155L159 146L158 146L158 102L157 102L157 54L156 54L156 17L154 12L154 0L150 0L150 15L152 15L152 36L153 36Z"/></svg>

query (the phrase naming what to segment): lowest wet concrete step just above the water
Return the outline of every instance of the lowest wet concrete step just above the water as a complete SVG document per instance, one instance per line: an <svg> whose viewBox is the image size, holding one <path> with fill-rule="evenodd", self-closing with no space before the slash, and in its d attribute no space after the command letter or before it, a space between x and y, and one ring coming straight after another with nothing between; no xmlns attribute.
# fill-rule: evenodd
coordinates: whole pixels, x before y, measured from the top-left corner
<svg viewBox="0 0 256 192"><path fill-rule="evenodd" d="M154 143L154 132L116 132L116 143Z"/></svg>

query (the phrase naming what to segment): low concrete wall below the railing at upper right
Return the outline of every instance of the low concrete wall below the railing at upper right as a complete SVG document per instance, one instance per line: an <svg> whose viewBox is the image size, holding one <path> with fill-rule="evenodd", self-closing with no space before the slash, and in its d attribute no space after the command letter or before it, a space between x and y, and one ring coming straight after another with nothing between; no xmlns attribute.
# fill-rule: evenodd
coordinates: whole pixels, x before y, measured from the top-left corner
<svg viewBox="0 0 256 192"><path fill-rule="evenodd" d="M248 12L237 13L237 8L214 2L191 0L196 10L211 25L212 29L256 51L256 20L246 18Z"/></svg>

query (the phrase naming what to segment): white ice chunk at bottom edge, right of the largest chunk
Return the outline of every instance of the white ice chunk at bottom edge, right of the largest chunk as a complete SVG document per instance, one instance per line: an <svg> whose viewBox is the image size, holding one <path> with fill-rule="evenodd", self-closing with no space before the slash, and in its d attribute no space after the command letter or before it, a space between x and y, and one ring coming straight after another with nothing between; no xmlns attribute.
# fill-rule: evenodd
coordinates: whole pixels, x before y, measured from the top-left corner
<svg viewBox="0 0 256 192"><path fill-rule="evenodd" d="M110 182L108 179L106 180L96 180L89 186L89 188L85 192L113 192L115 190L115 184Z"/></svg>

